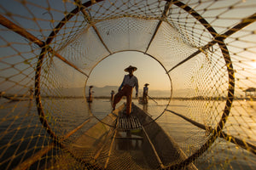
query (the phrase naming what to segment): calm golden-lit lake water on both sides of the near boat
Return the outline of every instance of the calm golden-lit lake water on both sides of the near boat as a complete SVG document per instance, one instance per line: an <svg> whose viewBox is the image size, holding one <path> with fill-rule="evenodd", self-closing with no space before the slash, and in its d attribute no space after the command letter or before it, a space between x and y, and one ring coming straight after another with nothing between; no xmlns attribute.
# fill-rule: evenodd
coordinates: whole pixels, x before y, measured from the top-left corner
<svg viewBox="0 0 256 170"><path fill-rule="evenodd" d="M157 103L149 99L148 105L140 105L136 99L133 100L135 105L147 111L153 118L157 118L165 109L168 109L202 124L212 123L212 127L219 121L221 116L219 112L224 109L224 102L216 101L172 100L168 108L166 108L168 100L156 101ZM125 100L122 100L119 105L123 102ZM112 110L108 99L94 99L89 106L85 104L84 99L43 99L42 103L49 126L60 136L78 127L89 118L90 114L102 119ZM0 169L11 169L41 150L42 146L50 144L51 140L39 122L34 101L8 102L6 99L0 99L0 105ZM255 108L255 102L235 101L224 132L239 139L246 139L247 142L255 145ZM65 142L75 139L96 122L94 119L87 123ZM156 122L172 136L172 139L175 139L188 156L207 140L207 133L204 130L169 111L165 111ZM54 155L49 153L49 156ZM43 163L44 160L32 168L37 168ZM195 165L198 169L256 169L256 156L236 144L217 139L212 147L195 161Z"/></svg>

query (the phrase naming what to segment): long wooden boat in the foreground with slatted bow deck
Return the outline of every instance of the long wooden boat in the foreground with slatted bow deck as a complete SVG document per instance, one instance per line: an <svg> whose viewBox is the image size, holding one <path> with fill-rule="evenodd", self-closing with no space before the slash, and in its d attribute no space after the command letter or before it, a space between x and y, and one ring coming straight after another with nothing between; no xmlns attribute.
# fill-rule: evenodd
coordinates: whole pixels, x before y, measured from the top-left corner
<svg viewBox="0 0 256 170"><path fill-rule="evenodd" d="M125 104L119 106L68 145L73 156L63 154L55 163L61 169L70 168L71 159L79 159L90 169L157 169L186 158L151 116L137 105L131 111L126 116ZM197 168L191 163L184 169Z"/></svg>

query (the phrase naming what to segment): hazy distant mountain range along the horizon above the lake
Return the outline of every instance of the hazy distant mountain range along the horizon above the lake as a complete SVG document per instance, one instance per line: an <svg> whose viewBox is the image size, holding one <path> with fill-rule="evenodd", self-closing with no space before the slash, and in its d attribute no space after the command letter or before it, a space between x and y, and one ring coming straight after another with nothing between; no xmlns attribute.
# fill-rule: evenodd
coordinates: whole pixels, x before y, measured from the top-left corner
<svg viewBox="0 0 256 170"><path fill-rule="evenodd" d="M105 86L102 88L94 87L94 97L110 97L111 91L113 90L115 93L118 92L118 86ZM28 92L29 88L22 88L22 89L15 89L13 88L11 91L4 92L6 96L27 96L29 95ZM88 96L89 87L85 88L85 94ZM185 88L185 89L173 89L172 91L172 98L219 98L219 97L226 97L226 92L224 91L223 94L216 95L216 91L212 89L198 89L195 92L195 89L192 88ZM133 89L133 97L135 97L136 90ZM2 94L2 92L1 92ZM143 89L139 89L139 97L143 95ZM151 90L150 87L148 89L148 95L153 98L169 98L171 96L170 90ZM248 94L250 96L251 94ZM55 96L55 97L84 97L84 88L41 88L41 96L48 97L48 96ZM1 95L0 95L1 97ZM243 98L246 97L244 91L236 91L236 98Z"/></svg>

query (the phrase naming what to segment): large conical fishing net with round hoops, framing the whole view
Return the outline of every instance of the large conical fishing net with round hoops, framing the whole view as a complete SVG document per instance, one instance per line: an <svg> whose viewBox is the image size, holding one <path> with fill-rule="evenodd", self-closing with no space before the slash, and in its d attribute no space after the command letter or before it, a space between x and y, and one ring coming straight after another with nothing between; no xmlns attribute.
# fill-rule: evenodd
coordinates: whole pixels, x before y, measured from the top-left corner
<svg viewBox="0 0 256 170"><path fill-rule="evenodd" d="M4 0L0 7L0 169L256 167L255 1ZM147 54L166 71L172 94L155 122L168 125L185 157L170 161L166 150L160 165L142 167L132 150L113 151L113 140L74 149L90 127L105 124L86 104L91 71L124 51Z"/></svg>

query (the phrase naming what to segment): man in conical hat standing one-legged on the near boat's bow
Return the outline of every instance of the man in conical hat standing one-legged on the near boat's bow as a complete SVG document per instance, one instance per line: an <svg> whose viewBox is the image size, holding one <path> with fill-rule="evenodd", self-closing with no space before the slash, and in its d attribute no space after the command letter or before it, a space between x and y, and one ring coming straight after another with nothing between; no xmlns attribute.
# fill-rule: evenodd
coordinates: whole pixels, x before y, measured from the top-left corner
<svg viewBox="0 0 256 170"><path fill-rule="evenodd" d="M137 71L137 67L129 66L125 68L125 72L129 72L128 75L125 75L124 80L119 87L119 92L114 95L113 98L113 111L115 110L115 105L119 103L123 96L126 96L126 115L131 114L131 99L132 99L132 89L136 88L136 97L138 93L138 81L137 77L133 75L133 72Z"/></svg>

